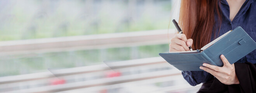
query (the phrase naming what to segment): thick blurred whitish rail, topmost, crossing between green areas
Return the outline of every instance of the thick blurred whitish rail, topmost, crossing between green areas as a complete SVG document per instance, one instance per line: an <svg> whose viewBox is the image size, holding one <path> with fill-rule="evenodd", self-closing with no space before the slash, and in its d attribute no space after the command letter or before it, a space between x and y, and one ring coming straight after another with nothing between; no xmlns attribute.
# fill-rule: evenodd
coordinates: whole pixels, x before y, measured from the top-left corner
<svg viewBox="0 0 256 93"><path fill-rule="evenodd" d="M169 37L174 36L174 29L170 29L169 31ZM33 40L1 41L0 55L131 47L165 43L168 43L167 29Z"/></svg>

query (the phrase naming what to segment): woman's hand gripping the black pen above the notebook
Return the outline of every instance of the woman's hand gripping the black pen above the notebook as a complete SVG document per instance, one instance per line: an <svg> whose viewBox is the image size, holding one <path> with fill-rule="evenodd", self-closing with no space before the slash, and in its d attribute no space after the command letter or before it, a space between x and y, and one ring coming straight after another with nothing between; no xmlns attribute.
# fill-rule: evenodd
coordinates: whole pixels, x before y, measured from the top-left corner
<svg viewBox="0 0 256 93"><path fill-rule="evenodd" d="M190 51L189 46L193 44L192 39L186 38L185 34L175 34L174 38L171 39L171 44L169 45L170 52L181 52Z"/></svg>

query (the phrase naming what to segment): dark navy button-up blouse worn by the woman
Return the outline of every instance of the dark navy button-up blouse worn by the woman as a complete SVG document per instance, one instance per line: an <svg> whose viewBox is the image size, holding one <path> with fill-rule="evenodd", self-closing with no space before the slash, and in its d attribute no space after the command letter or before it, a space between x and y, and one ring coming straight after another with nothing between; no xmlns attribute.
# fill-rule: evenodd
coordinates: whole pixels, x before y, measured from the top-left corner
<svg viewBox="0 0 256 93"><path fill-rule="evenodd" d="M229 6L226 0L220 0L220 8L222 13L221 28L219 36L241 26L254 41L256 41L256 0L246 0L240 8L237 15L235 15L233 21L229 19ZM215 15L215 17L217 17ZM212 31L211 41L214 40L214 31ZM218 31L216 30L216 33ZM251 62L256 64L256 50L247 54L242 59L238 60L237 63ZM237 70L237 69L236 69ZM182 75L186 81L192 86L200 83L204 83L211 79L213 76L205 71L182 71Z"/></svg>

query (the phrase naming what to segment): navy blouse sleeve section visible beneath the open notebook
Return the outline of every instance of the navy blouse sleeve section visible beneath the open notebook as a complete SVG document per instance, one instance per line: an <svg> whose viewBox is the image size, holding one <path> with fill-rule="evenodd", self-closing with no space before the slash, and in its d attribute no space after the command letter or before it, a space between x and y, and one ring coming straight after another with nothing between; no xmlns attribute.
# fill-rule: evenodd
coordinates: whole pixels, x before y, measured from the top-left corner
<svg viewBox="0 0 256 93"><path fill-rule="evenodd" d="M182 71L182 75L191 86L205 83L213 77L210 73L205 71Z"/></svg>

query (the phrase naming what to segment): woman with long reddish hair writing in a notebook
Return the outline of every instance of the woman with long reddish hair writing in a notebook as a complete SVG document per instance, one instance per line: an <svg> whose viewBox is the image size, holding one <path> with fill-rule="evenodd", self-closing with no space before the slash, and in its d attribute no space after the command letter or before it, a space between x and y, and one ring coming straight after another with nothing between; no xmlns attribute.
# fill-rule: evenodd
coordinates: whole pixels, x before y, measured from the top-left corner
<svg viewBox="0 0 256 93"><path fill-rule="evenodd" d="M241 26L256 41L256 0L182 0L179 25L183 33L171 39L169 51L200 49L229 30ZM190 38L190 39L187 39ZM224 66L203 64L204 71L182 71L199 93L256 93L256 50L235 64L221 55Z"/></svg>

